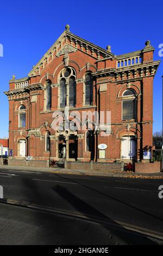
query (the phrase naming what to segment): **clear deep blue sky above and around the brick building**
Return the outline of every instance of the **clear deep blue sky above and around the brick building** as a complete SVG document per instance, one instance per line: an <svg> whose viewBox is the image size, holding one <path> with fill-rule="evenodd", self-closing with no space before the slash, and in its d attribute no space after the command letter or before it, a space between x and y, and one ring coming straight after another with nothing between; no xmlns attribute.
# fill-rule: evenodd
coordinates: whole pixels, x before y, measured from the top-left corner
<svg viewBox="0 0 163 256"><path fill-rule="evenodd" d="M1 1L0 44L0 137L8 136L8 81L26 77L28 72L70 25L70 31L114 54L141 50L146 40L155 47L163 44L163 3L161 1ZM162 127L161 76L163 62L154 79L153 130Z"/></svg>

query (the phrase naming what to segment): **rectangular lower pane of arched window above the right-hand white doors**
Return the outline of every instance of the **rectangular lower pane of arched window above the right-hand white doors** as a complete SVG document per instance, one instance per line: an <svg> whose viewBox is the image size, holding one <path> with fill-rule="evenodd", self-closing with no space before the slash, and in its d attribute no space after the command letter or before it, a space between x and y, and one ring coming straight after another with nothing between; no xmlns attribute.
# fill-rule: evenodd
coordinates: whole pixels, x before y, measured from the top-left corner
<svg viewBox="0 0 163 256"><path fill-rule="evenodd" d="M122 102L122 119L135 119L135 100L126 100Z"/></svg>

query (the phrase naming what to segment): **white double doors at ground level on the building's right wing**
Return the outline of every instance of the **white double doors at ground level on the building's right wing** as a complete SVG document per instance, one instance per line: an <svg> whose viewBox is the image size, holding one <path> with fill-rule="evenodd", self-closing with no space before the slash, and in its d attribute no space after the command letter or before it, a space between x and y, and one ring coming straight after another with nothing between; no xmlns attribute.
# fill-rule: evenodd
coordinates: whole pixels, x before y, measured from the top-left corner
<svg viewBox="0 0 163 256"><path fill-rule="evenodd" d="M124 136L121 141L121 159L133 160L136 155L134 136Z"/></svg>

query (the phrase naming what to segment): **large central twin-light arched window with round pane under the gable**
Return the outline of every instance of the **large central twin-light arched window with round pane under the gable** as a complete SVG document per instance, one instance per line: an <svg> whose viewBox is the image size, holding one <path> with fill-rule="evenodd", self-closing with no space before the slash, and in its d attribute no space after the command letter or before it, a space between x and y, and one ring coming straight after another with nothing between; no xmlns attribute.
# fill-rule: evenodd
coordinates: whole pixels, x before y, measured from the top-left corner
<svg viewBox="0 0 163 256"><path fill-rule="evenodd" d="M60 107L76 105L76 72L68 67L60 73Z"/></svg>

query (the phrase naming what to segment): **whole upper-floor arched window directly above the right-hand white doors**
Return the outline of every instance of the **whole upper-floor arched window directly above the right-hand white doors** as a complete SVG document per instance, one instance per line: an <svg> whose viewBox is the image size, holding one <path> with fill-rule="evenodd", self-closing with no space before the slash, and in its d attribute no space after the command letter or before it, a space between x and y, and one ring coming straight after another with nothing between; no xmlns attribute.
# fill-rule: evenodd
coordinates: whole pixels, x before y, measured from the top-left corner
<svg viewBox="0 0 163 256"><path fill-rule="evenodd" d="M136 100L134 90L127 89L122 96L125 97L125 99L122 99L122 120L135 119Z"/></svg>

